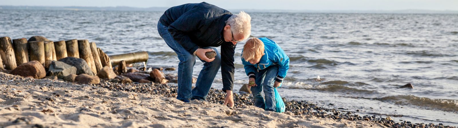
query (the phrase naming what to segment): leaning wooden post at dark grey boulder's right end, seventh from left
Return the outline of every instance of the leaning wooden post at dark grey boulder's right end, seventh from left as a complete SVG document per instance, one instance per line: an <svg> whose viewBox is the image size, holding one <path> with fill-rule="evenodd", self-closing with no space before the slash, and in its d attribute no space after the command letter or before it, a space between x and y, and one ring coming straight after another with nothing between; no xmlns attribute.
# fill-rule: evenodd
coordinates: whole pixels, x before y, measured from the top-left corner
<svg viewBox="0 0 458 128"><path fill-rule="evenodd" d="M87 40L78 40L78 48L80 52L80 58L86 60L87 65L91 67L92 72L97 74L97 68L94 64L94 59L92 56L91 46L89 45L89 41Z"/></svg>

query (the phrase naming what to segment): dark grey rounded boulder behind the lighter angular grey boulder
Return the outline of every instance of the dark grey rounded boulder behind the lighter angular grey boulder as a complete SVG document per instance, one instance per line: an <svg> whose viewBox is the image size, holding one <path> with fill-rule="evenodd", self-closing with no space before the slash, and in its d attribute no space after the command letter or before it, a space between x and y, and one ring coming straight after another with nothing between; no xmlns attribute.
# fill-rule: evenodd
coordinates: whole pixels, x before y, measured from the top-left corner
<svg viewBox="0 0 458 128"><path fill-rule="evenodd" d="M65 57L65 58L60 59L59 61L62 61L68 65L76 67L76 75L79 75L79 74L87 74L91 76L95 75L92 72L89 65L87 65L87 62L83 59L75 58L75 57Z"/></svg>

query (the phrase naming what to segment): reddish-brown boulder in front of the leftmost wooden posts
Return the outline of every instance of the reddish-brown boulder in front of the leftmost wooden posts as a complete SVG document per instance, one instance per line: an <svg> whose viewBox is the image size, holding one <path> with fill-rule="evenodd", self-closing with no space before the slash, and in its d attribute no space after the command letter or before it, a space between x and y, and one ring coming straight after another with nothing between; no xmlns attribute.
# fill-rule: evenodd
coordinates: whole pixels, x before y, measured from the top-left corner
<svg viewBox="0 0 458 128"><path fill-rule="evenodd" d="M32 76L35 79L46 77L46 70L38 61L29 61L16 67L10 74L27 77Z"/></svg>

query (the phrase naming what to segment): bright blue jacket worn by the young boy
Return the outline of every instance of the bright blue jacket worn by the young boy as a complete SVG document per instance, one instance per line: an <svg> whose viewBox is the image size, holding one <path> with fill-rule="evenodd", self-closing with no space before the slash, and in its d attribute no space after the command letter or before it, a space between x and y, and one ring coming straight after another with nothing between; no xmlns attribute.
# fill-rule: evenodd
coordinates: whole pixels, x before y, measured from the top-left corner
<svg viewBox="0 0 458 128"><path fill-rule="evenodd" d="M242 57L242 63L245 68L246 76L255 78L255 72L266 69L271 65L278 64L278 75L275 81L283 82L283 79L286 77L286 73L289 69L289 57L286 56L283 49L274 41L266 37L259 38L259 40L264 43L264 55L261 57L259 63L253 65L250 62L245 61ZM241 55L243 55L243 52Z"/></svg>

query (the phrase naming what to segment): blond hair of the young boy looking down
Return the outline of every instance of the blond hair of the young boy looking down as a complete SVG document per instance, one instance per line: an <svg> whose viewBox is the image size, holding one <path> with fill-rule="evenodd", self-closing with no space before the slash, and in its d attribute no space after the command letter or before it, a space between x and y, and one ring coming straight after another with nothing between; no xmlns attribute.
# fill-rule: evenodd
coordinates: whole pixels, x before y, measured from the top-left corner
<svg viewBox="0 0 458 128"><path fill-rule="evenodd" d="M256 37L251 37L243 46L242 58L245 61L257 60L264 55L264 43Z"/></svg>

